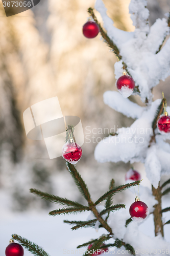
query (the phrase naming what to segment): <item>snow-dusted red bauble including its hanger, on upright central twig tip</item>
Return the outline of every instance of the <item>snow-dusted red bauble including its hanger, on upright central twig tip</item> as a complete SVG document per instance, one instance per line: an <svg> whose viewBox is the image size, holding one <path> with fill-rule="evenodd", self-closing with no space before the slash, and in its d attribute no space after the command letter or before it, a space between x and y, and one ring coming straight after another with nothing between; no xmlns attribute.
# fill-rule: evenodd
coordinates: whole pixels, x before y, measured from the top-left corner
<svg viewBox="0 0 170 256"><path fill-rule="evenodd" d="M71 164L77 164L82 157L81 146L74 141L74 126L66 129L66 143L62 147L62 157Z"/></svg>

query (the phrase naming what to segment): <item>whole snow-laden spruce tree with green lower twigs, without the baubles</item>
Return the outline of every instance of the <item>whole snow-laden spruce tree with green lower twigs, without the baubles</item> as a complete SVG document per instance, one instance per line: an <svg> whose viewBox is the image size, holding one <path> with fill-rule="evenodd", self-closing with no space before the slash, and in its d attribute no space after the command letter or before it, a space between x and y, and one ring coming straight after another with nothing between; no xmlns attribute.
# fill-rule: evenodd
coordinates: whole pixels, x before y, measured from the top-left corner
<svg viewBox="0 0 170 256"><path fill-rule="evenodd" d="M169 211L170 207L162 209L161 201L162 198L170 192L170 188L168 187L170 180L168 179L161 184L160 179L163 174L169 174L170 146L164 141L169 139L168 134L161 134L159 132L157 129L157 121L162 114L166 114L166 111L170 112L170 108L166 108L166 99L164 96L162 100L158 99L153 101L152 91L159 83L160 79L163 80L170 74L170 62L168 57L170 53L170 39L167 39L166 44L164 45L166 36L169 34L170 13L167 19L156 20L155 24L150 28L148 24L149 11L146 4L147 2L145 0L131 1L130 13L134 26L136 27L135 31L131 33L115 29L112 26L113 22L107 16L106 8L102 0L96 1L95 9L101 14L104 21L104 27L98 22L95 10L92 8L88 9L91 19L99 26L104 42L117 56L118 62L115 64L116 78L119 78L124 71L126 71L129 76L133 77L135 81L133 94L139 95L142 102L145 103L145 107L140 107L129 99L124 99L118 92L106 92L104 94L104 102L112 109L115 109L128 117L135 118L136 120L131 127L128 127L129 130L128 128L119 129L116 133L111 134L101 141L95 148L94 156L99 162L124 161L127 163L130 161L133 163L135 161L141 161L145 164L147 176L152 184L152 195L157 200L157 203L153 205L154 210L151 214L154 216L155 237L159 238L157 240L155 240L155 238L148 238L148 240L150 242L159 242L160 250L165 250L169 245L163 240L163 226L169 224L170 221L167 220L163 223L162 213ZM139 134L137 130L138 127L145 130L151 130L149 130L149 133ZM135 131L133 129L135 129ZM127 131L129 131L129 133L126 133ZM125 146L125 143L119 143L120 139L123 138L123 135L125 134L126 139L135 138L136 136L137 139L142 138L143 142L132 141L132 144L128 142L128 146ZM117 145L116 140L119 141L119 144L117 143ZM54 196L38 189L31 188L30 192L44 200L64 206L61 209L49 212L51 216L69 213L77 214L82 211L93 212L94 219L89 221L64 221L72 226L72 230L82 227L94 227L97 221L100 222L99 227L103 227L107 230L108 234L101 236L99 239L85 242L84 244L79 245L78 248L92 245L90 250L96 250L106 246L117 248L124 246L126 250L131 252L131 254L135 254L137 244L135 239L132 239L132 237L129 236L131 228L134 229L134 227L136 227L137 229L137 226L134 226L132 219L129 218L126 220L125 236L122 239L116 238L116 235L108 224L108 220L112 211L126 207L125 204L112 205L113 196L127 188L139 185L140 181L115 187L114 180L112 179L110 181L109 190L96 202L93 202L88 187L76 167L68 162L66 162L66 167L74 179L76 186L79 188L80 193L86 199L87 205ZM105 209L99 211L98 205L104 200L106 200ZM13 234L12 238L34 255L48 255L38 245L25 238L17 236L17 234ZM114 242L112 241L112 243L110 243L113 239ZM108 244L105 245L104 242ZM141 248L146 249L147 247L142 244ZM145 254L147 254L147 252ZM169 254L169 251L166 254ZM85 253L84 255L90 254Z"/></svg>

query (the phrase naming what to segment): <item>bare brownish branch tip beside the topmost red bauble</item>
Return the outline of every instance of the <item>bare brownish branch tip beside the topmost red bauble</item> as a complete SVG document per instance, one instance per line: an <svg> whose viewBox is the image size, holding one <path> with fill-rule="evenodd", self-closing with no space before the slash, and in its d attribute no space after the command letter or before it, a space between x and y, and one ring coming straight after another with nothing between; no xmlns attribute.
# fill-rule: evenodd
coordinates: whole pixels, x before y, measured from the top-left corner
<svg viewBox="0 0 170 256"><path fill-rule="evenodd" d="M117 46L114 44L114 42L109 38L107 33L104 31L104 29L102 28L101 24L98 22L98 19L94 15L93 9L91 7L88 9L88 13L93 18L94 22L96 24L98 24L100 32L101 32L101 35L102 35L103 39L105 40L106 44L112 49L114 54L117 56L118 60L122 59L122 56L120 56L119 50L118 50Z"/></svg>

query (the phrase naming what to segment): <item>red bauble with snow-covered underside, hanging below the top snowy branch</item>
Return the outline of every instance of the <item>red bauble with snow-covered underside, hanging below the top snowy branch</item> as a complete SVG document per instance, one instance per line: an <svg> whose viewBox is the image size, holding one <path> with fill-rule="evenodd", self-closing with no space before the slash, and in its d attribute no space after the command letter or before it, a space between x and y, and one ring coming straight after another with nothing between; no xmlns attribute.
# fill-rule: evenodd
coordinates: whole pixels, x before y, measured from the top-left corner
<svg viewBox="0 0 170 256"><path fill-rule="evenodd" d="M133 93L135 82L131 76L126 74L117 79L116 87L124 98L128 98Z"/></svg>

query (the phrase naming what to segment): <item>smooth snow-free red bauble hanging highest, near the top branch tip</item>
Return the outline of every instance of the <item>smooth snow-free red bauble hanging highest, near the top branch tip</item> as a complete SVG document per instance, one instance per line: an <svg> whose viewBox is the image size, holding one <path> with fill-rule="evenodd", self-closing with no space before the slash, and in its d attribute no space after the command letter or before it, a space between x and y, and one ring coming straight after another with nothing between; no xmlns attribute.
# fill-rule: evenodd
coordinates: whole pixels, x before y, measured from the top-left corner
<svg viewBox="0 0 170 256"><path fill-rule="evenodd" d="M87 22L83 26L83 35L87 38L96 37L99 31L99 26L95 22Z"/></svg>

